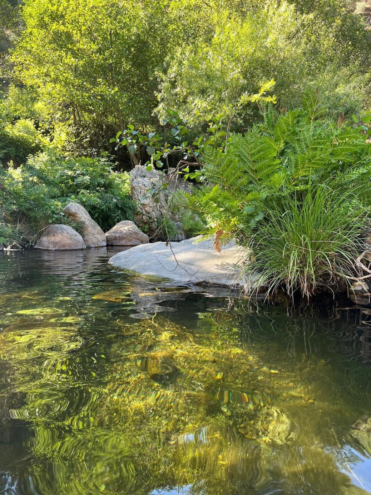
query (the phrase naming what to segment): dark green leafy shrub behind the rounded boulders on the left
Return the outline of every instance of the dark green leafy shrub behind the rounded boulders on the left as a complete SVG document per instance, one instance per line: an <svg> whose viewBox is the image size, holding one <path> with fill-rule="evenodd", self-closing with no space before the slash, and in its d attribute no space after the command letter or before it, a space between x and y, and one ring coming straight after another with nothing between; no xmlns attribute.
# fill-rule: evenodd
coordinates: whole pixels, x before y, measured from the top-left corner
<svg viewBox="0 0 371 495"><path fill-rule="evenodd" d="M103 230L133 218L128 174L112 171L106 158L74 158L41 153L18 168L3 170L0 206L10 220L27 223L35 233L66 220L69 201L85 206Z"/></svg>

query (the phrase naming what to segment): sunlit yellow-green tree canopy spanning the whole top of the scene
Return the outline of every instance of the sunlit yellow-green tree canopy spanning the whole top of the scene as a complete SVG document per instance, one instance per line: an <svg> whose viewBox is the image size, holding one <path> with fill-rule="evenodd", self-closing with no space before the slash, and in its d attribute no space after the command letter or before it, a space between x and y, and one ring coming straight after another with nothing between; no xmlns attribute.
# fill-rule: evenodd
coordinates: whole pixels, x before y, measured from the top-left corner
<svg viewBox="0 0 371 495"><path fill-rule="evenodd" d="M37 124L67 149L109 149L128 124L159 129L166 110L246 128L259 118L246 97L271 79L286 108L308 87L336 117L367 99L371 34L345 0L26 0L21 19L9 98L31 92Z"/></svg>

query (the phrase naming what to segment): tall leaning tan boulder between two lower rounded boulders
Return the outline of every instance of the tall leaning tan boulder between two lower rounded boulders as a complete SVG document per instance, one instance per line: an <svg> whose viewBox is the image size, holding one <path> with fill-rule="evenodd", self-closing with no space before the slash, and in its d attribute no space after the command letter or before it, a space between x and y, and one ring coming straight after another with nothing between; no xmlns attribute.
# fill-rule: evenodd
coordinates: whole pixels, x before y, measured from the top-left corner
<svg viewBox="0 0 371 495"><path fill-rule="evenodd" d="M89 215L84 206L79 203L68 203L63 213L82 228L81 237L86 247L103 247L106 245L106 237L99 225Z"/></svg>

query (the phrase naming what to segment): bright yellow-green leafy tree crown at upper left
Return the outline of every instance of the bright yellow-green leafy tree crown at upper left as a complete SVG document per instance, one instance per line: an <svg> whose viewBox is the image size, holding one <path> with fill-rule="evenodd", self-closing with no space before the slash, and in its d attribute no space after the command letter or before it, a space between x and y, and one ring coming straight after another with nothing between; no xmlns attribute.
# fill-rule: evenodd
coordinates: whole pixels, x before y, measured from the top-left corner
<svg viewBox="0 0 371 495"><path fill-rule="evenodd" d="M56 121L89 129L88 140L110 125L145 127L153 121L153 69L165 55L164 7L159 0L29 0L13 54L18 80L52 106Z"/></svg>

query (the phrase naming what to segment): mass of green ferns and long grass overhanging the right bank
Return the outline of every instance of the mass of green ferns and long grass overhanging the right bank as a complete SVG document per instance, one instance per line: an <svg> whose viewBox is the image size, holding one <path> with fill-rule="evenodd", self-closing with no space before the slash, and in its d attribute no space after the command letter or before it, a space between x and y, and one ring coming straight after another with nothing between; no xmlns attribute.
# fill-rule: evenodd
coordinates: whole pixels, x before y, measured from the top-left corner
<svg viewBox="0 0 371 495"><path fill-rule="evenodd" d="M189 196L220 242L250 250L248 269L271 290L309 295L355 271L371 205L367 125L327 122L316 93L282 115L205 148L204 185ZM355 120L357 120L354 117ZM365 117L370 122L371 116ZM210 184L210 185L209 185Z"/></svg>

